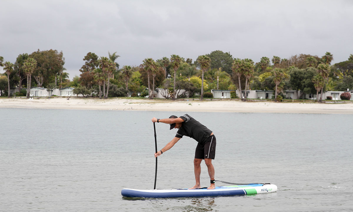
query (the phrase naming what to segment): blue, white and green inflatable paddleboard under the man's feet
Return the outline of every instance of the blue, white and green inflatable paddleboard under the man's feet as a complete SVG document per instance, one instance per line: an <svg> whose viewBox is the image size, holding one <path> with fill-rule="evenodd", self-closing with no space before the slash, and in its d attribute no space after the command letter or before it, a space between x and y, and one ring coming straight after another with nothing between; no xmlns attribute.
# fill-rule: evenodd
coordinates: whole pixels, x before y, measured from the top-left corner
<svg viewBox="0 0 353 212"><path fill-rule="evenodd" d="M121 195L138 198L178 198L195 196L231 196L276 192L274 184L224 185L215 189L152 189L140 190L124 188Z"/></svg>

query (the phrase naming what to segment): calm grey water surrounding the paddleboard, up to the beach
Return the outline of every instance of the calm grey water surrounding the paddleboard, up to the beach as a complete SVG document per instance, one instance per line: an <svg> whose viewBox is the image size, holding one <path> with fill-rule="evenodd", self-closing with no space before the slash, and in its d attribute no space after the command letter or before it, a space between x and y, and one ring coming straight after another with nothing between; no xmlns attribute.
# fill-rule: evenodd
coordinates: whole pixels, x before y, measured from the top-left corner
<svg viewBox="0 0 353 212"><path fill-rule="evenodd" d="M153 189L151 118L171 114L184 113L0 108L0 211L353 211L353 115L340 114L189 112L217 137L216 180L278 191L122 198L122 188ZM168 128L156 123L158 149ZM194 185L196 144L184 137L158 158L157 188Z"/></svg>

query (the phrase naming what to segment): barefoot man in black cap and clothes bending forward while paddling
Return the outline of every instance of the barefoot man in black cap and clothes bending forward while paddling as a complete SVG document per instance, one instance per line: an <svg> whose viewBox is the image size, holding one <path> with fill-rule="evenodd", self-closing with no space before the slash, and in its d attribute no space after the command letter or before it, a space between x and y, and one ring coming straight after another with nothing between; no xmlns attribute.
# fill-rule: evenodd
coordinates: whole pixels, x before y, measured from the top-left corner
<svg viewBox="0 0 353 212"><path fill-rule="evenodd" d="M198 144L195 150L195 159L194 159L194 172L196 184L190 189L201 188L200 185L200 173L201 173L201 161L204 159L208 169L208 175L211 179L211 185L207 189L215 189L215 169L212 165L212 159L215 159L216 153L216 137L211 130L202 125L200 122L185 114L183 116L170 116L165 119L152 118L152 122L162 122L170 124L171 129L178 129L175 137L167 143L160 151L155 153L155 157L160 156L170 148L174 146L184 135L195 139Z"/></svg>

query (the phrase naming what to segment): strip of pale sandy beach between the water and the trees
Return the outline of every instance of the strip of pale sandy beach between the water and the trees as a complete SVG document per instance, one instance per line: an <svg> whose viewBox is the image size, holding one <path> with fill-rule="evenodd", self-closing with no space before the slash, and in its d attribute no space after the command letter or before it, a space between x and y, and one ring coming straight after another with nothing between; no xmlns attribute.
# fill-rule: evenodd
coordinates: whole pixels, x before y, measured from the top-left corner
<svg viewBox="0 0 353 212"><path fill-rule="evenodd" d="M318 104L306 102L272 102L222 100L149 100L126 98L51 98L0 99L0 108L42 108L74 110L138 110L138 111L192 111L192 112L245 112L245 113L325 113L353 114L353 103Z"/></svg>

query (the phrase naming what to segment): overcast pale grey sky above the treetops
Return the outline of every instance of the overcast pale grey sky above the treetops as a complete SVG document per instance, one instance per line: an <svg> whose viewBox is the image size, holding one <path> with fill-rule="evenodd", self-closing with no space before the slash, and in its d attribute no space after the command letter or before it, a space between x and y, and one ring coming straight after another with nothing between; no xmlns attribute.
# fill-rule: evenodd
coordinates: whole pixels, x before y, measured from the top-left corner
<svg viewBox="0 0 353 212"><path fill-rule="evenodd" d="M71 80L88 52L116 52L120 67L216 50L255 62L330 52L334 64L353 54L352 11L351 0L1 0L0 56L62 51Z"/></svg>

